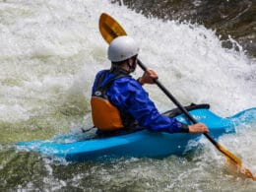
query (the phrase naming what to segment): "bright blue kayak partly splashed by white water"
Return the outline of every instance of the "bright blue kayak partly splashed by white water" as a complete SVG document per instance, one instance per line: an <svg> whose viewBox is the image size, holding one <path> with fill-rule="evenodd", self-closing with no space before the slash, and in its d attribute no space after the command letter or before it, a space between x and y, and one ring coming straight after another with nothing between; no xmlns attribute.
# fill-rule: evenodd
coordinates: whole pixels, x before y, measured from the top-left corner
<svg viewBox="0 0 256 192"><path fill-rule="evenodd" d="M221 117L209 109L208 104L188 107L189 113L205 123L210 135L218 139L227 133L235 133L234 127L256 120L256 108L243 110L231 117ZM190 124L178 109L164 113ZM147 129L107 138L81 139L85 134L63 135L52 140L19 142L22 151L36 152L47 157L58 157L68 161L112 160L116 158L163 158L169 155L182 155L189 149L189 142L197 141L202 135L186 133L168 134Z"/></svg>

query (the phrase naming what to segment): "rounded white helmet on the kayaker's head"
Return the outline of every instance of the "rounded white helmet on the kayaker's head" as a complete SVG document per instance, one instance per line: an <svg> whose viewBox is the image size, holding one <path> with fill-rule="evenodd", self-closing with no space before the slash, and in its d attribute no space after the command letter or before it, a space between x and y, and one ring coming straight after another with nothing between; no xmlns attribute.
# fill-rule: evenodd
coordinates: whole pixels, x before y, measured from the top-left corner
<svg viewBox="0 0 256 192"><path fill-rule="evenodd" d="M107 49L107 57L112 62L123 61L139 53L139 46L130 36L114 38Z"/></svg>

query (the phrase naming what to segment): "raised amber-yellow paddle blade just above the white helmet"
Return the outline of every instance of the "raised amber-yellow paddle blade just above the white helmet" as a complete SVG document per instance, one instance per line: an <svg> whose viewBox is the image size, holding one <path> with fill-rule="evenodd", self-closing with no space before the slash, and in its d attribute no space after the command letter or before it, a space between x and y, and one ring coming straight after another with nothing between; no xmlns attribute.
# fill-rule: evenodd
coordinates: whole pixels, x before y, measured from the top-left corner
<svg viewBox="0 0 256 192"><path fill-rule="evenodd" d="M103 13L99 18L98 23L99 32L109 44L115 37L126 35L123 28L110 16Z"/></svg>

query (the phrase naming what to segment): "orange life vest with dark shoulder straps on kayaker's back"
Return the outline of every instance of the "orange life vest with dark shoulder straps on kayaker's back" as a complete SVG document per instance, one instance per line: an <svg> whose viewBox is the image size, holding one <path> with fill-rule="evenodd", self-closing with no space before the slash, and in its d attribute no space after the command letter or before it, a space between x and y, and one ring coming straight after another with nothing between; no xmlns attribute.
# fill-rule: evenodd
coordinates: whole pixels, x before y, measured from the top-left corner
<svg viewBox="0 0 256 192"><path fill-rule="evenodd" d="M108 100L106 96L107 89L111 86L114 80L124 77L125 75L117 75L108 80L102 87L101 83L104 80L106 73L102 73L96 82L96 91L91 98L93 122L95 126L104 131L113 131L124 127L120 111Z"/></svg>

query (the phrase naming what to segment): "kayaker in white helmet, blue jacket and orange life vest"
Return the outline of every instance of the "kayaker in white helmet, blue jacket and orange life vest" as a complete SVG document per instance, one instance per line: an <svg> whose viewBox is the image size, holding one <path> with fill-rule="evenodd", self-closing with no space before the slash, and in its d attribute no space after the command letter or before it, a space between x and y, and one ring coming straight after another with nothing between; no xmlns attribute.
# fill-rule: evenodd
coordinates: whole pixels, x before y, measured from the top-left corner
<svg viewBox="0 0 256 192"><path fill-rule="evenodd" d="M130 36L118 36L108 46L109 70L96 74L91 99L92 115L100 137L126 133L139 127L168 133L205 133L206 125L186 125L176 118L160 114L143 89L154 84L158 75L147 70L141 78L130 76L137 66L139 46Z"/></svg>

